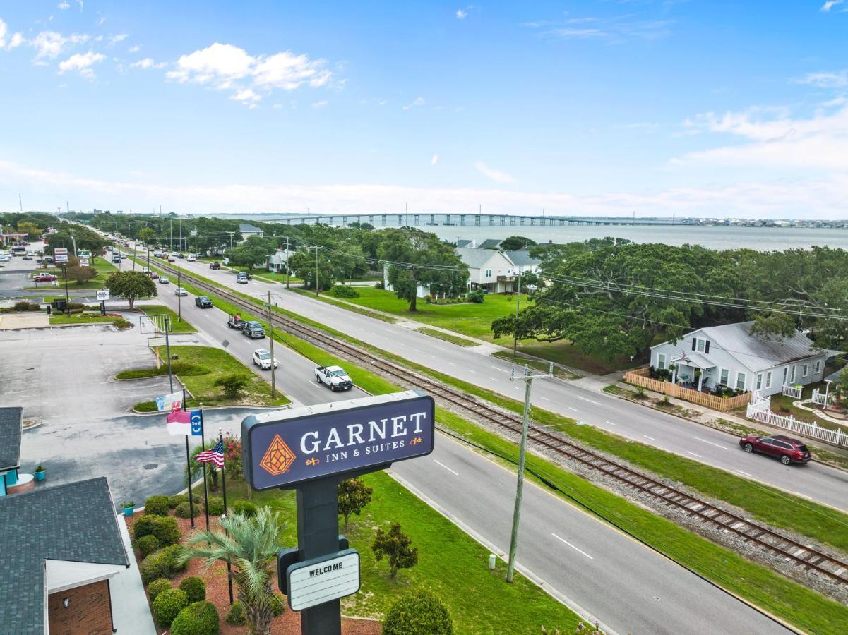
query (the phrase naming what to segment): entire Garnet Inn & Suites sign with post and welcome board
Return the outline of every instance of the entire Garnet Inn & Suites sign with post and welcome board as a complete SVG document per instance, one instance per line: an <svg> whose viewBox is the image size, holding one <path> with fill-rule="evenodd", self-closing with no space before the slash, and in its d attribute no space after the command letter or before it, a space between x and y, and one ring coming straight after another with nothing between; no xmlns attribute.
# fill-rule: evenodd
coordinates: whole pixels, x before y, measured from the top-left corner
<svg viewBox="0 0 848 635"><path fill-rule="evenodd" d="M304 635L341 633L341 599L360 586L359 554L338 535L338 483L430 454L434 415L432 397L410 390L242 421L250 487L298 491L296 559L287 550L278 561L288 563L281 590L292 609L302 611ZM282 581L282 571L278 577Z"/></svg>

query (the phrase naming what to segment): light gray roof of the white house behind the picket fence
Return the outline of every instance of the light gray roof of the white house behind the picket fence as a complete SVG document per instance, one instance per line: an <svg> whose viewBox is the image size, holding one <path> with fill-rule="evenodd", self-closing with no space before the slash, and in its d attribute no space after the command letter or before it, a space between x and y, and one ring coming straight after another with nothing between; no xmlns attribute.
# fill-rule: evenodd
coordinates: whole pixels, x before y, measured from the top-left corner
<svg viewBox="0 0 848 635"><path fill-rule="evenodd" d="M813 348L812 340L800 331L795 331L792 337L752 337L748 331L753 323L748 321L707 326L700 331L707 339L717 343L754 372L824 352L822 349ZM691 337L686 337L691 341Z"/></svg>

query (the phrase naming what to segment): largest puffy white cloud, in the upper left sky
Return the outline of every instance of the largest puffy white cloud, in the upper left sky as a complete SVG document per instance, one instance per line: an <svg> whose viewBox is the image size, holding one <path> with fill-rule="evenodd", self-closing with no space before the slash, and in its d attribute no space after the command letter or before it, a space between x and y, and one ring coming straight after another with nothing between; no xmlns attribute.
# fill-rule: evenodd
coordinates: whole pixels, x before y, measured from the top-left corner
<svg viewBox="0 0 848 635"><path fill-rule="evenodd" d="M323 59L313 60L290 51L254 57L243 48L215 42L183 55L176 61L176 69L170 70L167 77L180 83L193 82L236 93L250 87L255 89L253 94L258 94L270 93L278 88L293 91L304 84L313 88L326 86L332 73L326 70L325 65Z"/></svg>

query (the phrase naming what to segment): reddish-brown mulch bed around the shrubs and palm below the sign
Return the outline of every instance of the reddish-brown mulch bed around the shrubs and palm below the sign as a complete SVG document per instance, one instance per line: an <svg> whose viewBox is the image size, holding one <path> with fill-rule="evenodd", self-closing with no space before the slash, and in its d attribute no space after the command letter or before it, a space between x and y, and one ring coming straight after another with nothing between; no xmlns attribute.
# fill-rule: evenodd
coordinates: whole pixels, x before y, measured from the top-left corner
<svg viewBox="0 0 848 635"><path fill-rule="evenodd" d="M132 535L132 526L140 515L141 514L136 514L125 519L126 525L130 529L130 535ZM188 518L177 518L176 522L180 527L180 532L184 538L192 532L191 521ZM214 527L216 522L216 516L209 517L210 527ZM199 518L195 518L194 526L195 529L204 529L206 526L205 517L201 515ZM134 553L137 563L141 565L142 558L140 554L138 554L137 551L134 551ZM226 584L226 563L216 562L215 565L212 565L208 571L204 571L204 569L204 561L194 558L189 561L187 570L178 573L176 577L171 580L171 584L176 588L179 586L180 581L184 577L202 577L204 582L206 582L206 599L212 604L215 604L215 607L218 609L221 635L243 635L244 633L247 633L248 627L234 627L232 624L227 624L226 621L224 621L226 614L230 610L230 592ZM237 597L236 593L237 589L234 587L234 598ZM168 629L157 627L157 631L160 635L167 630ZM297 635L299 632L300 613L293 611L288 607L286 607L286 612L283 613L282 616L274 618L274 621L271 622L272 635ZM379 621L345 617L342 620L342 632L345 635L379 635L379 633L382 632L382 625Z"/></svg>

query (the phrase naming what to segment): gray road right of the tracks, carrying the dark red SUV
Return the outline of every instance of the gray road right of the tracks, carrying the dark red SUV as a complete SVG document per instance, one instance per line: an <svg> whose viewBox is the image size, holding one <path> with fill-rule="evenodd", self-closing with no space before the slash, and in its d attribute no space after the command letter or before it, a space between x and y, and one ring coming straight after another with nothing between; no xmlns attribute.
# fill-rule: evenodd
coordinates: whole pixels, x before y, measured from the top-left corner
<svg viewBox="0 0 848 635"><path fill-rule="evenodd" d="M491 357L485 351L460 347L404 326L339 309L332 304L287 291L276 283L254 278L248 285L237 285L235 276L229 270L209 270L208 265L204 263L181 261L182 264L187 270L257 298L264 298L271 290L272 301L284 309L332 326L365 343L446 375L458 377L508 397L522 398L523 388L520 382L509 381L510 363ZM737 476L765 482L797 493L801 497L848 511L848 474L844 471L817 463L785 466L760 454L745 454L739 448L738 437L564 380L535 382L533 404L622 437L681 454L689 459L720 467Z"/></svg>

